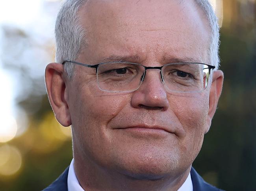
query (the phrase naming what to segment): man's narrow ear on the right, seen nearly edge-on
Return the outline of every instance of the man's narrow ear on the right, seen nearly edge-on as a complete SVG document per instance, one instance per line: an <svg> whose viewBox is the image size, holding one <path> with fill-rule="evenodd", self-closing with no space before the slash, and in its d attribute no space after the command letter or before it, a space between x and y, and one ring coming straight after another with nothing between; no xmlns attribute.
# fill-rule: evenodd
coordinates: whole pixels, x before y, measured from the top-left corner
<svg viewBox="0 0 256 191"><path fill-rule="evenodd" d="M217 109L217 104L219 101L219 97L221 95L223 79L224 79L223 71L217 70L213 72L210 95L209 95L209 111L208 111L206 128L204 133L207 133L210 129L211 120Z"/></svg>

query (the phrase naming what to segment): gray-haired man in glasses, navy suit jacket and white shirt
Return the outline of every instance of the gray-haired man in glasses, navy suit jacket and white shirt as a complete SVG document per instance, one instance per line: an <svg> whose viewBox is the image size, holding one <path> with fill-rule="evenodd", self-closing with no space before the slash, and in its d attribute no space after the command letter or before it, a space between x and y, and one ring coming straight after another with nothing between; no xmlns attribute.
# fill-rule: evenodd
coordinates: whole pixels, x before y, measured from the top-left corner
<svg viewBox="0 0 256 191"><path fill-rule="evenodd" d="M74 159L45 190L219 190L191 168L223 84L208 1L68 0L56 45L46 87Z"/></svg>

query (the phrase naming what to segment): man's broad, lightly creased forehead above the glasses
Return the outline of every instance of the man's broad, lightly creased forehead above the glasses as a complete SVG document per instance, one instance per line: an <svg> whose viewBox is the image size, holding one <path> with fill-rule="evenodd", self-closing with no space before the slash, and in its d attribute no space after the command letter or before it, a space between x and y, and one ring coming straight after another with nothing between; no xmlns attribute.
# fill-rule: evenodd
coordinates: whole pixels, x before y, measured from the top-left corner
<svg viewBox="0 0 256 191"><path fill-rule="evenodd" d="M210 26L193 0L89 0L79 15L85 55L99 61L110 55L202 61L210 44Z"/></svg>

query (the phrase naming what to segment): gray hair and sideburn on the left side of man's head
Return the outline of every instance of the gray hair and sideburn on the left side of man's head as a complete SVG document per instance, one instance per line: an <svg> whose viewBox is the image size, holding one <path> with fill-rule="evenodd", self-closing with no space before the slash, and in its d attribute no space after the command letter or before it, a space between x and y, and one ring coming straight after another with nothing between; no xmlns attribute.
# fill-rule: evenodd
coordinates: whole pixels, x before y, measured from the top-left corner
<svg viewBox="0 0 256 191"><path fill-rule="evenodd" d="M78 11L87 0L65 0L56 18L55 60L62 63L64 60L76 60L81 48L87 44L85 29L80 24ZM74 65L65 64L65 72L68 78L74 75Z"/></svg>

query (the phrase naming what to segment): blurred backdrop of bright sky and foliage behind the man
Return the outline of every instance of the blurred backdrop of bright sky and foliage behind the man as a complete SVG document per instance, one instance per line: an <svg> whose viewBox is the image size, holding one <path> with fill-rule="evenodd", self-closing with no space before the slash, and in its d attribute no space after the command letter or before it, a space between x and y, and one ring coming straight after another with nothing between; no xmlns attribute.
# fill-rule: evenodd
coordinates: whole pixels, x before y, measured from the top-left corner
<svg viewBox="0 0 256 191"><path fill-rule="evenodd" d="M228 191L256 190L256 0L211 0L221 25L224 87L193 166ZM72 159L44 70L54 61L61 0L0 1L0 190L41 190Z"/></svg>

